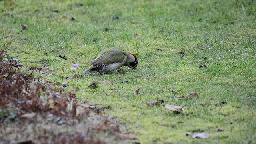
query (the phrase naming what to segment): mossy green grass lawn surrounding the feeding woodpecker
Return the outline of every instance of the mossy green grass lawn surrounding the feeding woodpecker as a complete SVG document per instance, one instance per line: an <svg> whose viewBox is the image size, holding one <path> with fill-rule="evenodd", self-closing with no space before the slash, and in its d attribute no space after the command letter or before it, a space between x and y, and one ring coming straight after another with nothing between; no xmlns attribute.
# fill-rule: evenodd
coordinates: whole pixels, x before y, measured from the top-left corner
<svg viewBox="0 0 256 144"><path fill-rule="evenodd" d="M78 6L79 2L84 5ZM78 102L110 106L104 114L117 116L128 132L142 134L136 142L256 143L254 0L14 3L8 7L8 1L0 1L0 38L12 35L0 40L0 49L21 59L20 64L45 66L65 78L86 71L104 48L117 46L140 54L137 70L121 68L117 74L72 80L58 75L44 79L68 82L67 91L79 87ZM119 19L114 20L114 15ZM28 28L22 30L21 24ZM181 50L184 56L178 54ZM74 63L80 65L78 70L70 69ZM92 81L114 82L92 90L88 88ZM136 88L140 94L131 93ZM190 92L198 93L198 98L176 100ZM166 104L186 105L184 114L146 106L157 98ZM185 135L198 129L210 138Z"/></svg>

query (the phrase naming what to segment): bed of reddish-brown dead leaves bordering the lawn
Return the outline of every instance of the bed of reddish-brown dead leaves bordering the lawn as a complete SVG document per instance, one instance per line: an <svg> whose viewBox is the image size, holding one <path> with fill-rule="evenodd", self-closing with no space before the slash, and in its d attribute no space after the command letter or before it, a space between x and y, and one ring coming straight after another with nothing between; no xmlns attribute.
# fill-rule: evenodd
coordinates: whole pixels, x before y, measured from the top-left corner
<svg viewBox="0 0 256 144"><path fill-rule="evenodd" d="M116 119L76 103L74 93L52 88L40 82L41 77L15 69L18 66L16 61L0 62L0 141L103 144L135 138L135 134L126 134L125 126Z"/></svg>

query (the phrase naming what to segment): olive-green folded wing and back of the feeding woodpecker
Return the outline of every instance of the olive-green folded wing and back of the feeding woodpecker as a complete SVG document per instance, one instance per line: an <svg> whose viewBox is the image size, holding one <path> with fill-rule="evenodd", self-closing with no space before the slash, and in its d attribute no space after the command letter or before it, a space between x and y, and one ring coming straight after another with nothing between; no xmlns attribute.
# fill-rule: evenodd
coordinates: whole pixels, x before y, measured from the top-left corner
<svg viewBox="0 0 256 144"><path fill-rule="evenodd" d="M118 48L103 50L99 56L90 64L89 69L122 62L125 56L126 52Z"/></svg>

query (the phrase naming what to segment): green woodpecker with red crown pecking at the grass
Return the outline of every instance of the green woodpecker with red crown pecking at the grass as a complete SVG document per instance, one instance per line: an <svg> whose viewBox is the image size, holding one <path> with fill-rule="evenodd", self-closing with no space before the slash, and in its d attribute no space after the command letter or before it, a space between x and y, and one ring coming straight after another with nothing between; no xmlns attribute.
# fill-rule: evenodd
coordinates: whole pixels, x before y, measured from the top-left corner
<svg viewBox="0 0 256 144"><path fill-rule="evenodd" d="M107 48L100 52L98 57L91 62L89 69L83 73L86 75L92 71L100 71L104 74L118 70L122 66L136 69L138 65L137 57L118 48Z"/></svg>

